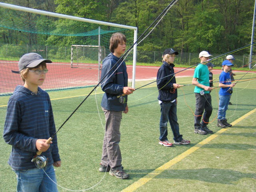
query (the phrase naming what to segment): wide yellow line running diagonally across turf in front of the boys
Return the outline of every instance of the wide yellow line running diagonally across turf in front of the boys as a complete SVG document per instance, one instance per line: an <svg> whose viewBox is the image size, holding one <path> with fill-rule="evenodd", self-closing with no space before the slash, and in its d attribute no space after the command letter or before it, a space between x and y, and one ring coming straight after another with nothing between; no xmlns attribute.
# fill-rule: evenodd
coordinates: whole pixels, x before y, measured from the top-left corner
<svg viewBox="0 0 256 192"><path fill-rule="evenodd" d="M235 124L237 124L238 122L242 121L244 118L250 116L252 113L254 113L256 111L256 108L254 110L251 110L250 112L246 113L245 115L243 115L242 117L238 118L237 120L235 120L234 122L232 122L231 124L234 126ZM198 150L199 148L201 148L202 146L204 146L205 144L207 144L208 142L210 142L211 140L213 140L214 138L216 138L218 135L222 134L223 132L225 132L226 128L223 128L221 130L219 130L218 132L216 132L215 134L212 134L211 136L209 136L208 138L202 140L201 142L199 142L198 144L196 144L195 146L191 147L190 149L186 150L185 152L183 152L182 154L176 156L175 158L173 158L172 160L170 160L169 162L163 164L162 166L160 166L159 168L155 169L154 171L152 171L151 173L147 174L146 176L140 178L138 181L134 182L133 184L131 184L130 186L128 186L127 188L123 189L122 192L133 192L135 191L137 188L139 188L140 186L146 184L148 181L150 181L152 178L158 176L159 174L161 174L163 171L167 170L168 168L170 168L171 166L173 166L174 164L180 162L182 159L184 159L186 156L192 154L193 152L195 152L196 150Z"/></svg>

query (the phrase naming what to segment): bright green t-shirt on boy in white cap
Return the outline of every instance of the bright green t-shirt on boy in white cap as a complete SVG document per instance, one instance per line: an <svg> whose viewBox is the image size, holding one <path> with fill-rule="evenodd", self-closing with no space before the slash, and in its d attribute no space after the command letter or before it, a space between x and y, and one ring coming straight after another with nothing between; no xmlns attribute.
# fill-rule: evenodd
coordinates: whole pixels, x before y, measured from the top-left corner
<svg viewBox="0 0 256 192"><path fill-rule="evenodd" d="M209 84L209 70L208 67L206 65L203 64L199 64L196 68L195 68L195 72L194 72L194 78L197 78L198 83L205 85L205 86L210 86ZM194 92L195 93L200 93L200 91L202 91L204 89L195 86ZM210 93L210 91L204 91L204 93Z"/></svg>

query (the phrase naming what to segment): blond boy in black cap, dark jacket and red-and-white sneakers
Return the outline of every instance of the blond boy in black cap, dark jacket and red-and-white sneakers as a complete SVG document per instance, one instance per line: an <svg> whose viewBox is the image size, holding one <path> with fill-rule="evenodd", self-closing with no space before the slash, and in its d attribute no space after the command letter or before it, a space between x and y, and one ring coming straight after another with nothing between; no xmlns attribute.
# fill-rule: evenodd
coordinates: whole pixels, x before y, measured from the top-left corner
<svg viewBox="0 0 256 192"><path fill-rule="evenodd" d="M159 144L171 147L173 144L168 141L167 123L170 122L172 133L174 136L174 144L190 144L189 140L184 140L180 134L178 118L177 118L177 89L180 88L176 84L174 75L174 59L178 52L173 49L166 49L162 56L163 64L157 72L157 88L158 88L158 101L161 107L160 117L160 137Z"/></svg>

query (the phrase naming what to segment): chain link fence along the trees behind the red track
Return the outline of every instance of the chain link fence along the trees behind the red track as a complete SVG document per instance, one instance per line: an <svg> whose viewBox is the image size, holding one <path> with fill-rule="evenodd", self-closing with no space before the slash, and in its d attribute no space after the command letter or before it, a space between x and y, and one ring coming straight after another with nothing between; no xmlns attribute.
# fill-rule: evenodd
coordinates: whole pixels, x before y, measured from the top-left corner
<svg viewBox="0 0 256 192"><path fill-rule="evenodd" d="M19 60L19 58L30 52L36 52L42 55L43 58L54 60L54 62L64 61L70 62L71 60L71 46L39 46L39 45L12 45L4 44L0 45L0 59L12 59ZM107 55L106 53L105 55ZM219 56L221 54L212 54L212 58ZM236 59L234 62L234 67L247 67L249 66L249 54L244 55L233 55ZM215 60L212 60L212 63L215 66L221 66L223 60L226 56L222 56ZM256 55L252 55L252 61L256 60ZM129 54L126 57L126 61L132 62L132 54ZM162 62L162 52L160 51L137 51L137 62L139 65L143 64L158 64ZM198 53L179 53L176 56L175 63L182 64L186 66L192 66L200 62L198 58ZM252 66L254 66L252 64Z"/></svg>

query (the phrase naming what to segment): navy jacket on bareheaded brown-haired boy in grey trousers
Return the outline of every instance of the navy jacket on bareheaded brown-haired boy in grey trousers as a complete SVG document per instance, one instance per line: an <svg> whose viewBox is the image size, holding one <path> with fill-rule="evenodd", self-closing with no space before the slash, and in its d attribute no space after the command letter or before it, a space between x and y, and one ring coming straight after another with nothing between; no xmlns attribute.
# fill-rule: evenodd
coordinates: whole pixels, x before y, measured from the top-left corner
<svg viewBox="0 0 256 192"><path fill-rule="evenodd" d="M108 56L104 58L102 62L100 80L102 80L102 78L109 72L109 70L116 64L118 60L119 58L114 56L112 53L108 54ZM120 103L117 96L122 94L123 88L127 86L128 74L126 71L126 64L124 61L121 61L121 64L118 63L101 82L101 88L105 92L102 97L101 106L110 111L124 111L127 105L127 95L124 96L125 103Z"/></svg>

